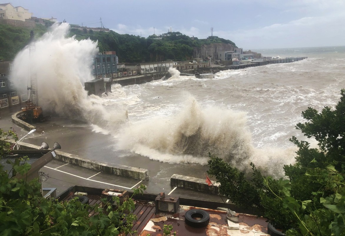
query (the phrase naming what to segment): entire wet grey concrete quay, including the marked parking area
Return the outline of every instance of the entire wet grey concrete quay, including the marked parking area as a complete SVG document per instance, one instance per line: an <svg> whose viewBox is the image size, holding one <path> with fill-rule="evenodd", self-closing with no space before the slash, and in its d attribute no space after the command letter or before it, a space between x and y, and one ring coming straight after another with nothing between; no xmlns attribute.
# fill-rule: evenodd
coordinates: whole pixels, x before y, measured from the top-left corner
<svg viewBox="0 0 345 236"><path fill-rule="evenodd" d="M11 122L11 114L17 110L18 108L12 108L1 111L0 128L9 130L12 127L20 138L26 135L27 131ZM84 122L52 116L51 120L34 125L36 131L28 135L23 142L40 145L44 141L50 147L54 142L58 142L63 152L83 158L148 169L149 180L142 181L140 184L145 184L149 193L168 194L174 189L174 186L170 186L170 177L173 174L205 178L204 173L208 170L208 166L199 164L162 163L130 152L116 151L111 135L93 132L91 126ZM139 180L98 173L56 160L48 163L41 170L46 173L43 187L55 187L57 194L74 185L112 189L121 189L121 187L129 189L136 184L140 185ZM176 188L171 195L220 202L226 200L220 196L181 188Z"/></svg>

